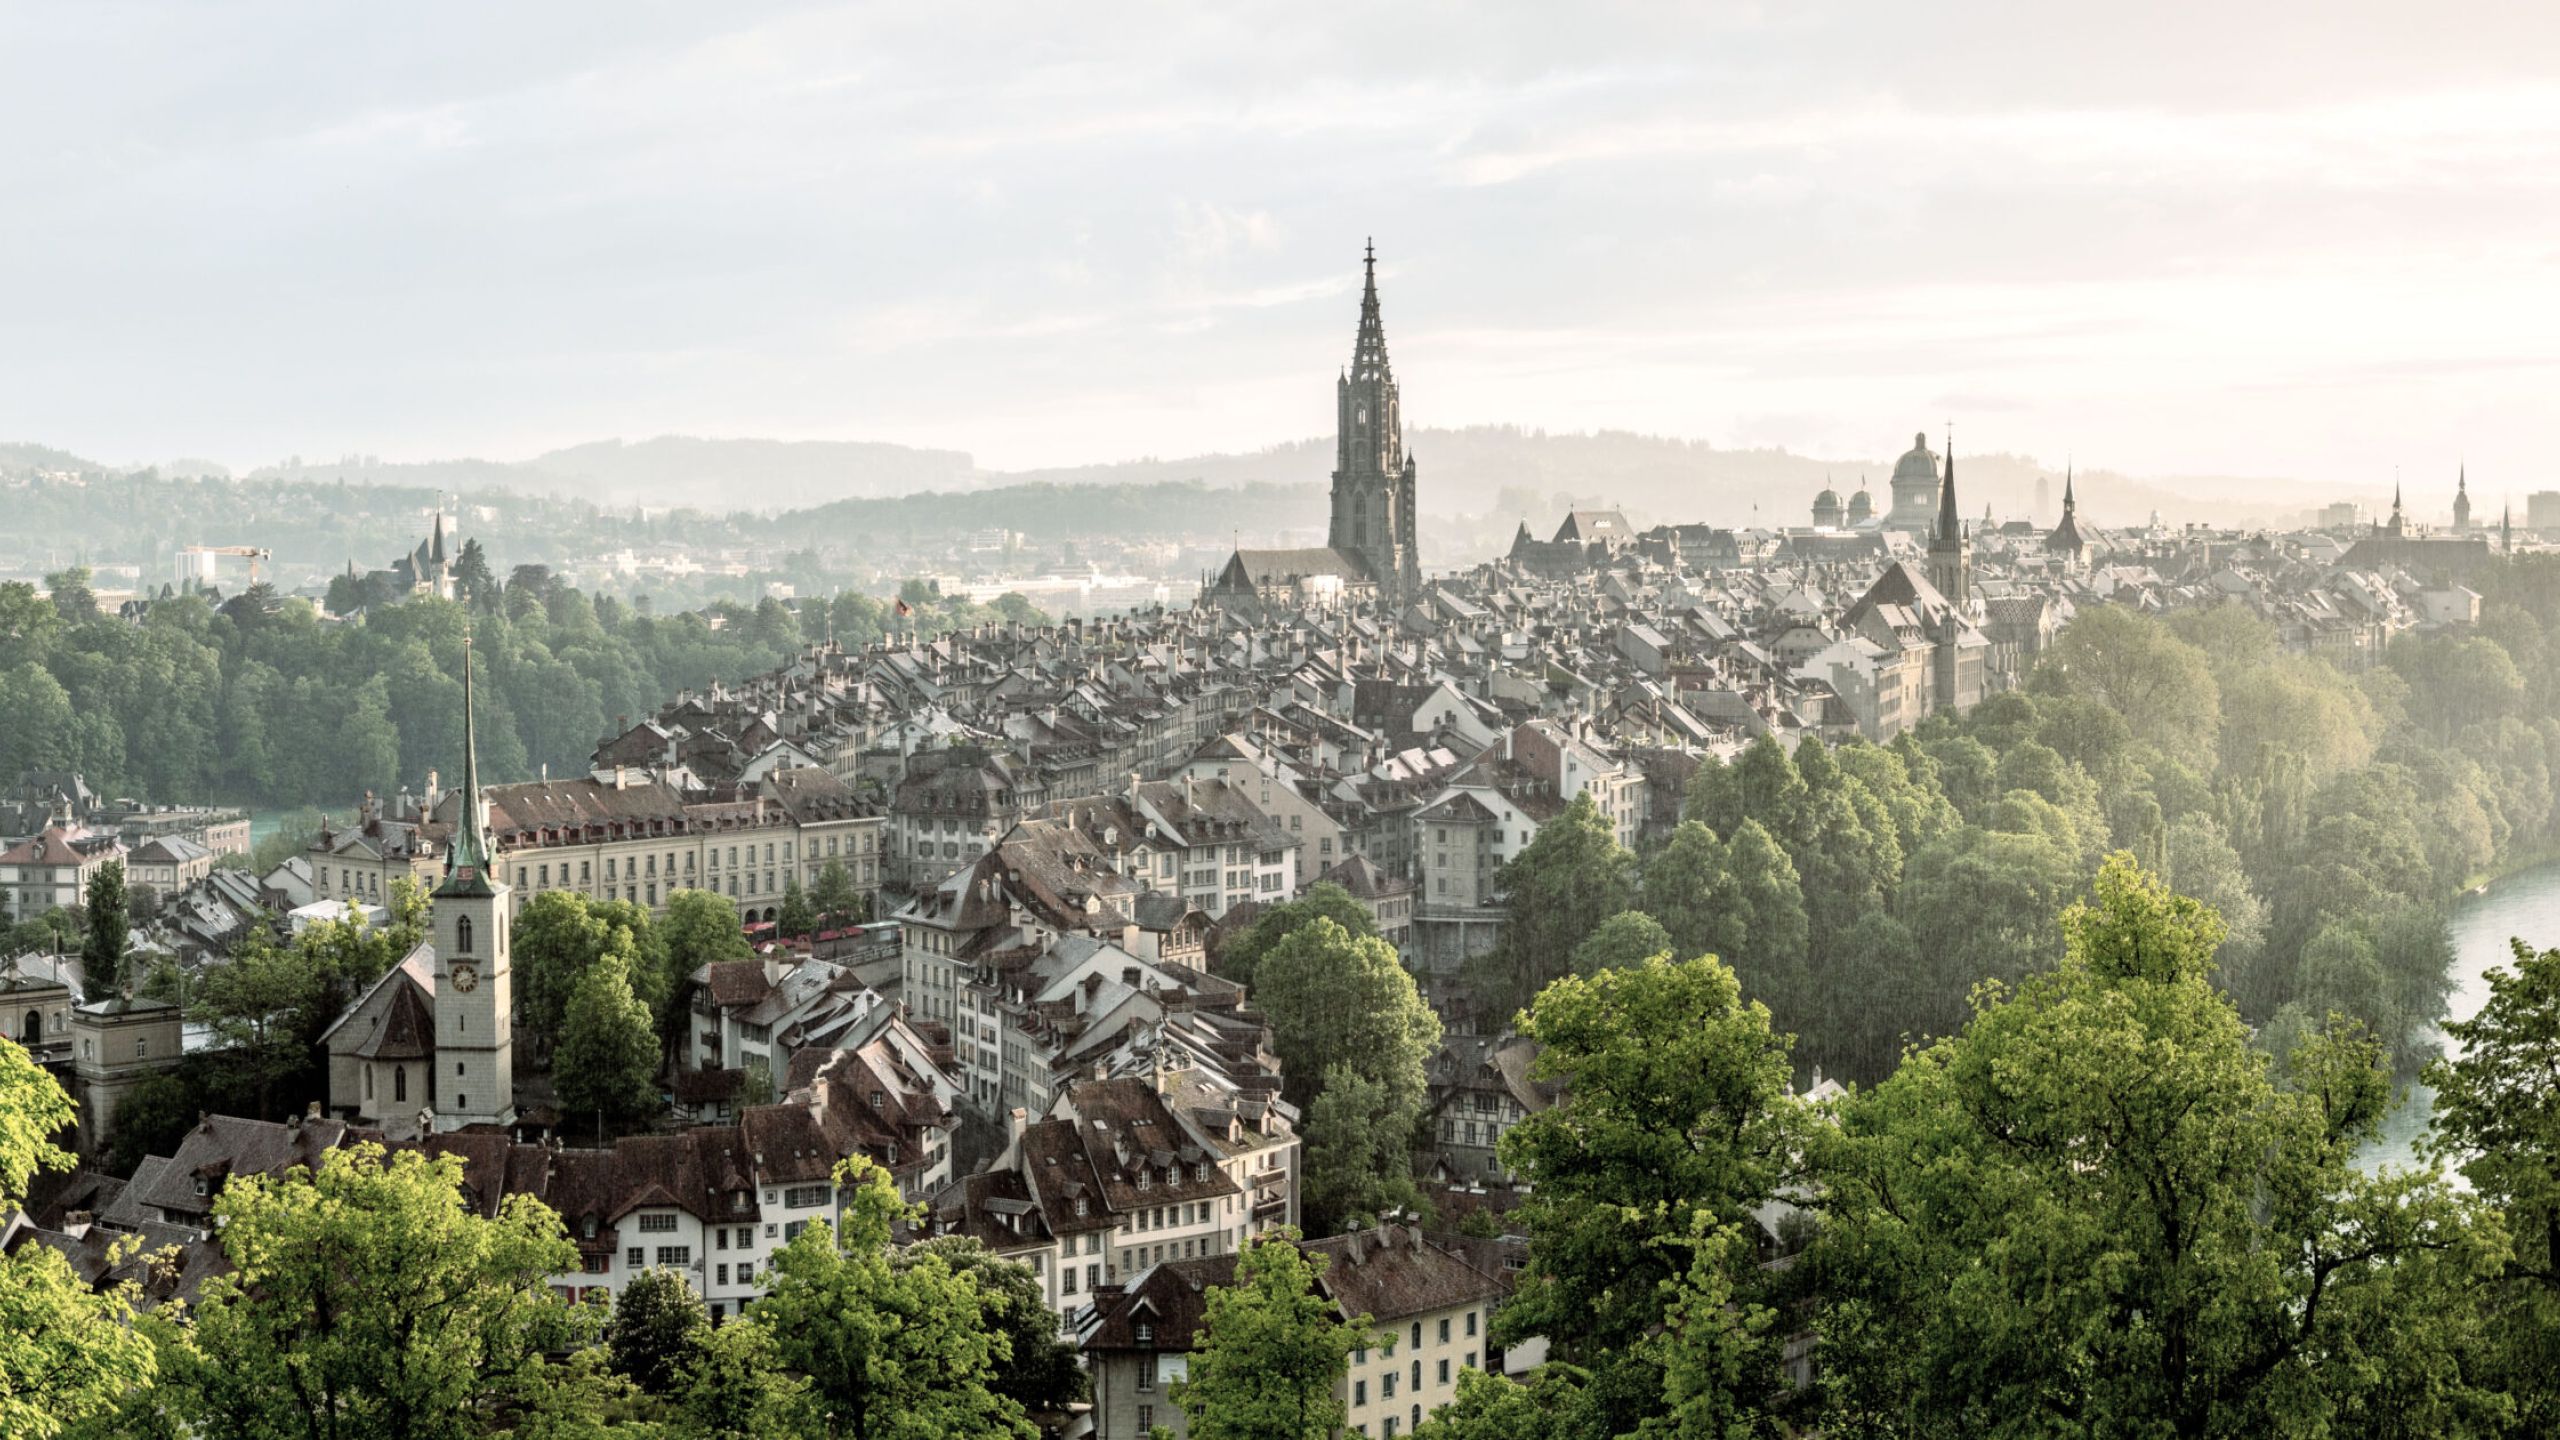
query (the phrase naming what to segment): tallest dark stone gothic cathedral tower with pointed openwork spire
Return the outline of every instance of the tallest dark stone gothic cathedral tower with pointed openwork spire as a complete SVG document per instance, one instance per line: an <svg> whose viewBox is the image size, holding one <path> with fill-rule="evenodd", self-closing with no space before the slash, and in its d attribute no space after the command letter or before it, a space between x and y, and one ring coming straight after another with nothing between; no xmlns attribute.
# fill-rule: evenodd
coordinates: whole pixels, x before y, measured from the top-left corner
<svg viewBox="0 0 2560 1440"><path fill-rule="evenodd" d="M1367 254L1359 295L1359 341L1334 395L1334 525L1326 543L1359 561L1385 600L1413 600L1423 587L1413 541L1413 456L1388 369L1388 328L1377 320L1377 246Z"/></svg>

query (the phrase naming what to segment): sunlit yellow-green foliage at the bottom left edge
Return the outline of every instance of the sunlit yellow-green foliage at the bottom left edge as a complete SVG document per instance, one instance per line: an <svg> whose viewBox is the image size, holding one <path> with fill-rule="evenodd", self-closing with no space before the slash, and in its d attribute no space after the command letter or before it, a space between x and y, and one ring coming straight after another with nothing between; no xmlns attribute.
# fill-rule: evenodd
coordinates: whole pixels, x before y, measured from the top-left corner
<svg viewBox="0 0 2560 1440"><path fill-rule="evenodd" d="M72 1168L54 1145L67 1125L72 1097L0 1038L0 1212L26 1202L36 1171ZM120 1261L138 1250L138 1238L118 1243ZM136 1302L138 1286L95 1291L51 1245L0 1253L0 1435L49 1440L148 1386L159 1361L133 1330Z"/></svg>

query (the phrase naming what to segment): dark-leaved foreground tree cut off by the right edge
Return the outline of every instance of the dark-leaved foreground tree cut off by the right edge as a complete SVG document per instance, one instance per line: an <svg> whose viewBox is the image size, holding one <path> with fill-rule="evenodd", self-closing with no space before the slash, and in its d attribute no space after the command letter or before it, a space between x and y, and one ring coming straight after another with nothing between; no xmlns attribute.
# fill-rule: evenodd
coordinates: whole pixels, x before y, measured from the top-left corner
<svg viewBox="0 0 2560 1440"><path fill-rule="evenodd" d="M2514 969L2488 971L2488 999L2445 1022L2452 1056L2435 1086L2429 1156L2460 1166L2506 1217L2514 1253L2476 1294L2488 1371L2516 1407L2516 1435L2560 1427L2560 951L2514 940Z"/></svg>

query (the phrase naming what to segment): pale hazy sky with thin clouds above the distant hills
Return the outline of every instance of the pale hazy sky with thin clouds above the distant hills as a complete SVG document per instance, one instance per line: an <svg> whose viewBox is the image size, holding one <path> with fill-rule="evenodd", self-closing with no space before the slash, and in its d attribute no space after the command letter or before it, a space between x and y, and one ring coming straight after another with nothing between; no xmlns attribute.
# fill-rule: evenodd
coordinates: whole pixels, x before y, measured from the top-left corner
<svg viewBox="0 0 2560 1440"><path fill-rule="evenodd" d="M1375 233L1411 423L2555 479L2560 5L5 28L0 438L110 461L1249 448L1331 428Z"/></svg>

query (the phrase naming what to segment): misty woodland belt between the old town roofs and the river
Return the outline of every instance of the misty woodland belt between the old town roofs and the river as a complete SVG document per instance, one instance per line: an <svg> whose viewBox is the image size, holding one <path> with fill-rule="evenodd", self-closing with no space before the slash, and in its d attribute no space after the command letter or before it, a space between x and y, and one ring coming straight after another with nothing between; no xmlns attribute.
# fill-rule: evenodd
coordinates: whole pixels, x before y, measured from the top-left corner
<svg viewBox="0 0 2560 1440"><path fill-rule="evenodd" d="M1477 989L1654 951L1715 953L1800 1071L1887 1076L1981 981L2061 951L2056 917L2125 848L2225 917L2214 976L2286 1056L2330 1012L2409 1076L2442 1010L2445 904L2560 838L2560 564L2501 569L2478 633L2409 633L2345 674L2243 607L2081 612L2025 692L1892 746L1761 738L1628 856L1577 805L1508 869L1518 920ZM1667 940L1654 940L1654 928Z"/></svg>

